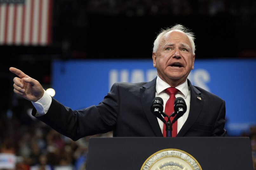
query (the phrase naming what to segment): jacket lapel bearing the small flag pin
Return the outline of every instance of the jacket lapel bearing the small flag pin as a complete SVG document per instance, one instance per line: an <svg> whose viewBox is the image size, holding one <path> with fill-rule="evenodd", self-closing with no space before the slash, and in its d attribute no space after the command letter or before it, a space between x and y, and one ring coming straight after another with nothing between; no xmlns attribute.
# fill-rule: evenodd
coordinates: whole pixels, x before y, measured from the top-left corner
<svg viewBox="0 0 256 170"><path fill-rule="evenodd" d="M204 103L204 98L200 95L201 92L197 88L192 86L189 80L187 80L187 82L188 88L190 89L190 108L187 120L177 134L177 137L184 136L191 128L191 126L195 123L196 119L200 115Z"/></svg>

